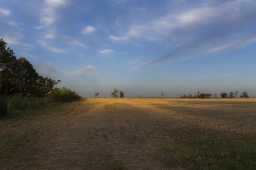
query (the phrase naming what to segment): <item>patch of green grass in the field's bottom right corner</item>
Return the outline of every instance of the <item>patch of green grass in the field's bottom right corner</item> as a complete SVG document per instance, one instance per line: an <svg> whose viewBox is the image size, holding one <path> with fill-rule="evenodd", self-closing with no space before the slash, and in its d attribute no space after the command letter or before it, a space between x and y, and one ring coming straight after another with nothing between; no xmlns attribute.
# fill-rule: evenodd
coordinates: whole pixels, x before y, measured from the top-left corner
<svg viewBox="0 0 256 170"><path fill-rule="evenodd" d="M175 141L162 148L167 165L187 170L255 170L253 139L196 139Z"/></svg>

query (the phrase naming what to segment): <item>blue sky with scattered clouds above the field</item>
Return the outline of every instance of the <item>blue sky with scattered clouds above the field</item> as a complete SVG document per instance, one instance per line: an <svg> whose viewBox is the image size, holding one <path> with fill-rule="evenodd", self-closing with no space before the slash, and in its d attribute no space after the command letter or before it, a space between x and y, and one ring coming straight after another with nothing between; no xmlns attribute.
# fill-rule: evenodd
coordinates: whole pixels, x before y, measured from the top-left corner
<svg viewBox="0 0 256 170"><path fill-rule="evenodd" d="M0 0L0 37L83 97L256 97L256 0Z"/></svg>

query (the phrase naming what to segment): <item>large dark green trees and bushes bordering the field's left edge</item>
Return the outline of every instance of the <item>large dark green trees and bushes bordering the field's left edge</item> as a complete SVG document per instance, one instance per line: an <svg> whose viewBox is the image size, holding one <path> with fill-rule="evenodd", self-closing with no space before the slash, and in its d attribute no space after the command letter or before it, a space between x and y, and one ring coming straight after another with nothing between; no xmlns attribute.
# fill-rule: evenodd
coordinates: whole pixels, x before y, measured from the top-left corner
<svg viewBox="0 0 256 170"><path fill-rule="evenodd" d="M26 58L17 59L6 45L0 38L0 117L12 110L81 98L70 88L54 88L60 80L38 75Z"/></svg>

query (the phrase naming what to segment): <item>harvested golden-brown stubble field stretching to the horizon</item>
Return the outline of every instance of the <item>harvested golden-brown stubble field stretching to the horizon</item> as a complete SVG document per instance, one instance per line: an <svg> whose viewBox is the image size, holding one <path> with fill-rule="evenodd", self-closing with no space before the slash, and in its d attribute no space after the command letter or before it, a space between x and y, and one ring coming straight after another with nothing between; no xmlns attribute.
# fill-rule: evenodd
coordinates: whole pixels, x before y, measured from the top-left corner
<svg viewBox="0 0 256 170"><path fill-rule="evenodd" d="M0 170L254 170L256 99L82 99L0 121Z"/></svg>

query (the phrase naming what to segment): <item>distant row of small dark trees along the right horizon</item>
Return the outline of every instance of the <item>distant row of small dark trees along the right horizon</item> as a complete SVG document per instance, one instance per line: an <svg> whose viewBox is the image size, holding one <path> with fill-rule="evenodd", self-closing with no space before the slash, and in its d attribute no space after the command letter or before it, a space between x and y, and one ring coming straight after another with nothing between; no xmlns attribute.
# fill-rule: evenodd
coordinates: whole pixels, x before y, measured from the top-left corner
<svg viewBox="0 0 256 170"><path fill-rule="evenodd" d="M192 94L189 94L188 96L186 95L182 95L181 98L200 98L200 99L205 99L205 98L212 98L212 96L214 98L218 98L218 94L217 93L214 93L214 95L212 94L204 94L204 93L201 93L198 91L197 95L192 95ZM242 92L240 94L240 96L238 96L238 91L236 91L235 93L234 92L230 92L230 94L228 95L227 93L221 93L220 95L221 98L249 98L249 95L247 94L247 92Z"/></svg>

